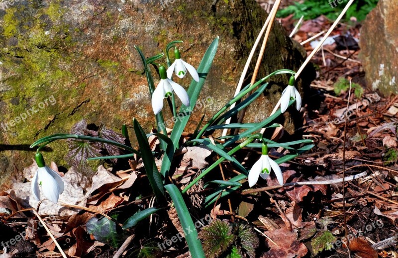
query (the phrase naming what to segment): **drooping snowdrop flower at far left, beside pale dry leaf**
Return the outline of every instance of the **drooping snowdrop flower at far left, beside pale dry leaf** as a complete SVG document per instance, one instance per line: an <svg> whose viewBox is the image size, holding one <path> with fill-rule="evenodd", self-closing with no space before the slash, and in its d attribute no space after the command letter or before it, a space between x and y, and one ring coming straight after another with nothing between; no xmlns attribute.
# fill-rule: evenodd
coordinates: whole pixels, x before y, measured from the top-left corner
<svg viewBox="0 0 398 258"><path fill-rule="evenodd" d="M37 201L40 200L39 185L41 185L44 196L53 203L57 203L59 195L64 191L64 182L61 176L45 165L41 153L36 153L35 160L39 168L32 179L33 197Z"/></svg>

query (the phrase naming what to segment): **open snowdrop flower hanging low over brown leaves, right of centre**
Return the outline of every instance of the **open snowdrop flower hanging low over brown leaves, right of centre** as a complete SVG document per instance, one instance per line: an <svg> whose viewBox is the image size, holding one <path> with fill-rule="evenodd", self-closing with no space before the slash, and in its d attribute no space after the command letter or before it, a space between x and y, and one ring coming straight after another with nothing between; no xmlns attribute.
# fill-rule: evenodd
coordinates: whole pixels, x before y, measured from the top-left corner
<svg viewBox="0 0 398 258"><path fill-rule="evenodd" d="M268 156L268 146L263 142L262 155L249 172L249 186L252 187L255 185L259 176L266 179L270 175L271 168L276 174L279 184L283 185L281 168L279 168L278 164Z"/></svg>

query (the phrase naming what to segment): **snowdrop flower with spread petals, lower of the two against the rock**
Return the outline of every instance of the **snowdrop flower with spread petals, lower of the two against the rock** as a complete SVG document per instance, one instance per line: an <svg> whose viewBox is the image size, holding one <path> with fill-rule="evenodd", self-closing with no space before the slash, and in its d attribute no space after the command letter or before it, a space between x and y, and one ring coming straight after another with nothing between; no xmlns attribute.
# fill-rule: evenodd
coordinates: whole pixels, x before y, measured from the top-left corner
<svg viewBox="0 0 398 258"><path fill-rule="evenodd" d="M153 91L152 94L152 109L155 115L157 115L163 108L163 98L173 95L176 92L177 96L181 99L184 105L190 105L190 97L187 91L179 85L167 78L166 68L164 66L159 67L160 83Z"/></svg>

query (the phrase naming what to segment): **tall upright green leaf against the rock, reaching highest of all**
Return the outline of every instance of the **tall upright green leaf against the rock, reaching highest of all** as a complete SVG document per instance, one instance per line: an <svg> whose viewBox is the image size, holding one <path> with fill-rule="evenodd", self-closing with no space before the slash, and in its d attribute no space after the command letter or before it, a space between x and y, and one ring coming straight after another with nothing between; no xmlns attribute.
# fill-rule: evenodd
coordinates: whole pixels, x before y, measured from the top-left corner
<svg viewBox="0 0 398 258"><path fill-rule="evenodd" d="M206 53L204 54L199 67L198 67L198 74L199 74L199 82L195 82L192 80L190 87L188 88L188 95L190 96L190 106L187 107L182 105L180 109L180 113L185 114L181 119L178 119L176 124L173 127L173 131L171 133L170 139L173 141L173 148L174 151L178 148L178 143L180 141L181 135L185 129L185 126L188 123L188 120L191 117L192 111L195 109L195 104L198 100L200 91L203 87L204 81L207 77L208 72L210 71L211 64L213 63L213 59L215 53L217 52L218 48L218 37L214 39L214 41L210 44ZM171 166L170 161L163 161L161 173L167 175L169 173Z"/></svg>

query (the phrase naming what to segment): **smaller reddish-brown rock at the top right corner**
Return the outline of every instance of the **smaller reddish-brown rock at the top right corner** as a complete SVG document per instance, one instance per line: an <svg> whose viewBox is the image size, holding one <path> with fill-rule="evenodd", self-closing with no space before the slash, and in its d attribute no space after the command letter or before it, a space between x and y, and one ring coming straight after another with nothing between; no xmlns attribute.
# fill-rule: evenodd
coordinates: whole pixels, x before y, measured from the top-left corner
<svg viewBox="0 0 398 258"><path fill-rule="evenodd" d="M398 1L380 0L361 29L360 59L366 82L383 94L398 94Z"/></svg>

